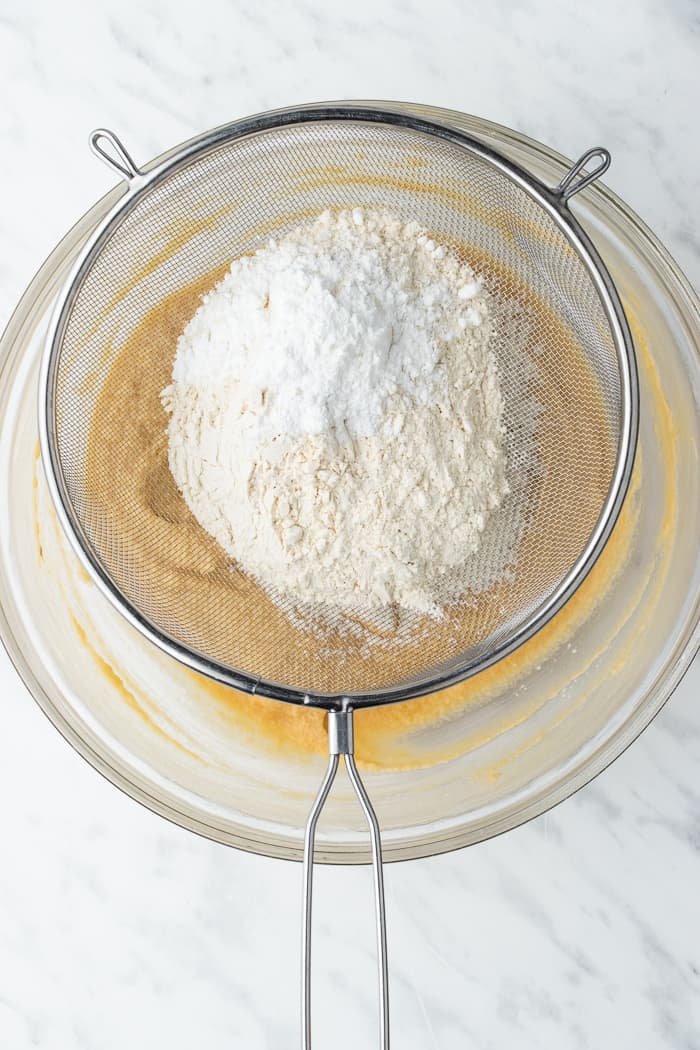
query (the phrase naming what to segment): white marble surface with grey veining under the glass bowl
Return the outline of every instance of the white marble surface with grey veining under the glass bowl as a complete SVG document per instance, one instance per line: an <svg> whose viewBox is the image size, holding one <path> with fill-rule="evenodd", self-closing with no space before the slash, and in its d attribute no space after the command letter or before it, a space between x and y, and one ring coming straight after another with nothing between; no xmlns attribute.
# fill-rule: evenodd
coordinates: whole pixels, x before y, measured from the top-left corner
<svg viewBox="0 0 700 1050"><path fill-rule="evenodd" d="M0 4L0 321L137 160L247 112L336 98L453 106L608 182L700 281L695 0L92 0ZM387 872L402 1050L700 1047L700 668L554 813ZM196 839L97 776L0 657L0 1046L297 1045L296 866ZM368 873L318 877L316 1046L376 1045ZM340 902L340 906L339 906Z"/></svg>

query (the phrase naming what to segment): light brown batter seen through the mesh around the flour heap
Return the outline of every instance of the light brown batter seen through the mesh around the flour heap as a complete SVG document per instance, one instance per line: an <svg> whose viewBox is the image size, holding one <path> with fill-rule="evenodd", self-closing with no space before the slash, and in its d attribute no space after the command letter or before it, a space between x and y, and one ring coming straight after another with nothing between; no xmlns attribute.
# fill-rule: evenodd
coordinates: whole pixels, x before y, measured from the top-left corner
<svg viewBox="0 0 700 1050"><path fill-rule="evenodd" d="M366 634L318 637L295 627L252 580L231 566L174 485L160 399L170 380L177 336L201 294L220 278L219 270L164 300L134 331L104 383L91 425L86 489L92 519L103 536L109 529L121 538L112 572L125 589L135 583L135 604L156 624L194 648L269 680L302 689L313 684L315 691L328 693L380 689L459 655L465 642L484 637L501 622L504 607L534 600L542 580L558 578L577 556L597 518L612 466L598 387L579 348L544 306L512 274L497 272L492 259L467 254L476 270L507 282L509 298L534 311L535 321L539 314L542 324L534 328L558 329L565 368L579 377L572 414L560 371L548 370L539 351L536 398L547 411L537 444L544 469L532 480L538 486L537 513L521 543L514 580L455 606L444 623L426 622L424 629L419 625L408 642L398 635L390 617L380 628L363 625L388 643L372 647L368 654ZM533 348L533 356L535 352ZM560 357L558 363L560 368ZM585 457L581 448L587 449ZM560 542L544 543L560 506L574 508L574 513Z"/></svg>

